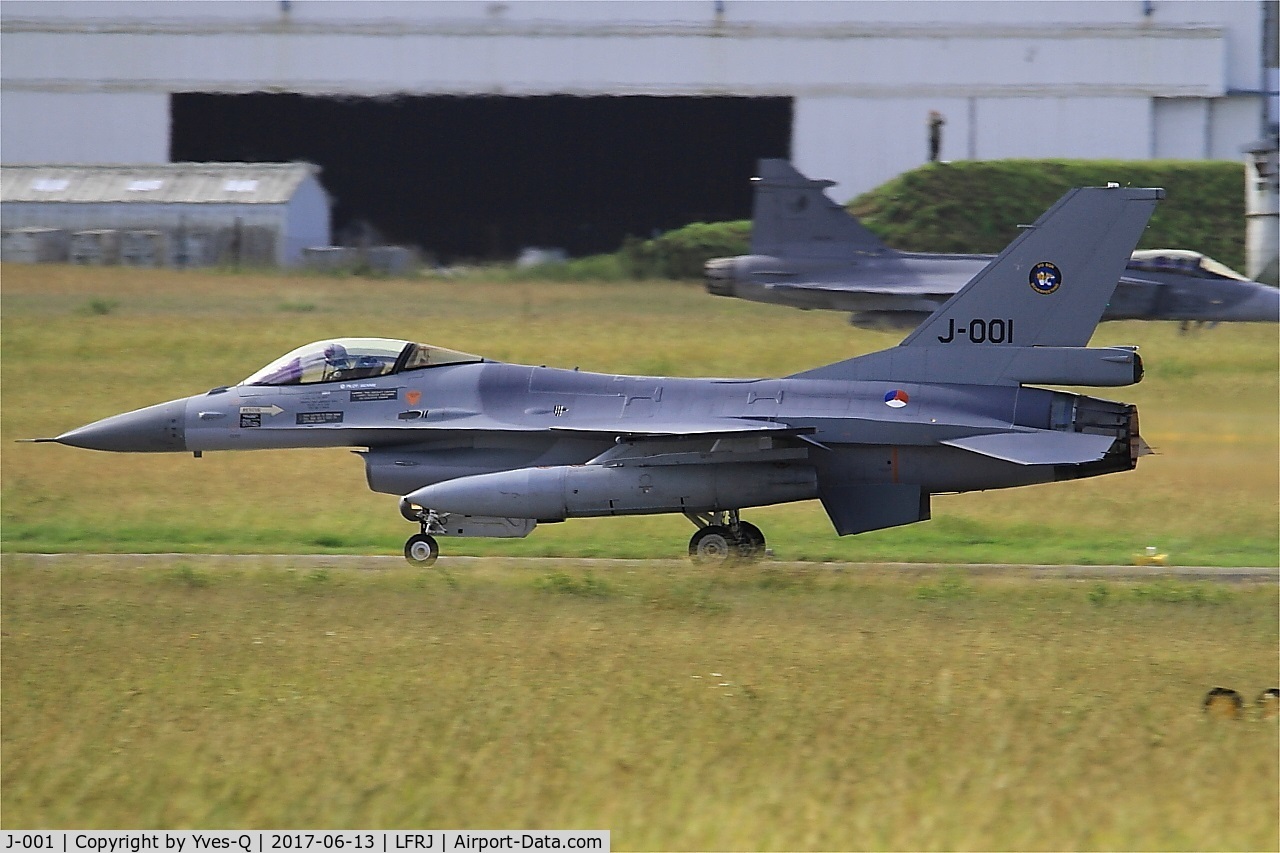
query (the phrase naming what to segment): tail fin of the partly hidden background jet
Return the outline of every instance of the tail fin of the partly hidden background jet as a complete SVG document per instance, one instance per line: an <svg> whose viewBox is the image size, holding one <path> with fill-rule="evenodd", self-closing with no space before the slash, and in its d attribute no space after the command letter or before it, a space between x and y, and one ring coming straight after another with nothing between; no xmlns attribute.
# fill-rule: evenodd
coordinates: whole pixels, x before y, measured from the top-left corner
<svg viewBox="0 0 1280 853"><path fill-rule="evenodd" d="M751 254L776 257L852 257L888 248L787 160L760 160L751 209Z"/></svg>

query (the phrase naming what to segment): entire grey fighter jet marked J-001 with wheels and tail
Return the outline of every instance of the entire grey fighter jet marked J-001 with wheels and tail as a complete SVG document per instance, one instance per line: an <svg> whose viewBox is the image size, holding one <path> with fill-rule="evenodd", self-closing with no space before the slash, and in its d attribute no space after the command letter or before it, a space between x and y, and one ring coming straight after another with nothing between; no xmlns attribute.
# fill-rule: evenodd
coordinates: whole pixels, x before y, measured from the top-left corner
<svg viewBox="0 0 1280 853"><path fill-rule="evenodd" d="M746 507L818 498L840 535L929 517L940 492L1137 465L1134 406L1030 384L1128 386L1135 347L1088 347L1162 190L1083 188L897 347L781 379L623 377L424 343L311 343L236 386L73 429L100 451L364 448L420 533L524 537L564 519L682 512L695 560L750 558Z"/></svg>

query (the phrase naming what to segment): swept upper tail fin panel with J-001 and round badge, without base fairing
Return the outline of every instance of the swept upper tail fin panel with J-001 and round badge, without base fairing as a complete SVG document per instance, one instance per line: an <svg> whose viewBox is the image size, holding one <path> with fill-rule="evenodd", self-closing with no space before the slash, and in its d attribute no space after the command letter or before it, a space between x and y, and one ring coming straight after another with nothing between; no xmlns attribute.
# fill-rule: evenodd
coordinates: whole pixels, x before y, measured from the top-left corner
<svg viewBox="0 0 1280 853"><path fill-rule="evenodd" d="M900 346L1083 347L1164 190L1069 191Z"/></svg>

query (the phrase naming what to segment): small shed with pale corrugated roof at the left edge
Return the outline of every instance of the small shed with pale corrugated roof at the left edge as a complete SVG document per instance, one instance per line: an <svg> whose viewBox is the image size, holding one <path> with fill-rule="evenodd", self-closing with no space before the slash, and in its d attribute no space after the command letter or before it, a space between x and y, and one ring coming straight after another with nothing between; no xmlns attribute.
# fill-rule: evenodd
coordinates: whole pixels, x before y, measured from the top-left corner
<svg viewBox="0 0 1280 853"><path fill-rule="evenodd" d="M292 266L329 243L308 163L0 167L5 260Z"/></svg>

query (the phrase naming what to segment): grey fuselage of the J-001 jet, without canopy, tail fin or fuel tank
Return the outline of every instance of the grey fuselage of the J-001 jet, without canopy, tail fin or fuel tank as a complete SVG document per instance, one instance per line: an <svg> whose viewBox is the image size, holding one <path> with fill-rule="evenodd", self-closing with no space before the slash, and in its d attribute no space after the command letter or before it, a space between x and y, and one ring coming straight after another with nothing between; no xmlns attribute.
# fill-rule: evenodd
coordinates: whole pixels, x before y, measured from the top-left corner
<svg viewBox="0 0 1280 853"><path fill-rule="evenodd" d="M911 483L931 493L1064 479L1057 465L1014 464L942 442L1011 429L1076 430L1079 401L1116 406L1114 438L1126 447L1126 407L1041 388L626 377L502 362L355 382L216 388L109 418L59 441L93 450L188 452L365 447L370 487L407 494L476 474L586 465L616 448L623 441L617 435L660 450L668 428L687 433L694 424L704 446L682 452L718 453L727 461L739 453L759 470L810 470L809 488L786 492L787 500L806 500L818 497L827 479ZM735 421L742 420L776 425L777 435L735 438ZM1130 467L1128 452L1121 461L1116 470ZM735 496L737 506L780 502L771 489L742 497Z"/></svg>

